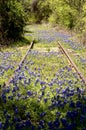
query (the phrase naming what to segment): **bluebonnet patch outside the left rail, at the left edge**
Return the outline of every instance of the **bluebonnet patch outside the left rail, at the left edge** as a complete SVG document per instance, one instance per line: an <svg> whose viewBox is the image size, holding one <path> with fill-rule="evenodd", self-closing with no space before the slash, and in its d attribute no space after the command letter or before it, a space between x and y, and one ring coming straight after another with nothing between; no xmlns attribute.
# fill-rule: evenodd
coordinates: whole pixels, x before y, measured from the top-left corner
<svg viewBox="0 0 86 130"><path fill-rule="evenodd" d="M13 52L0 52L0 77L5 71L14 69L17 57L21 57L21 52L16 49Z"/></svg>

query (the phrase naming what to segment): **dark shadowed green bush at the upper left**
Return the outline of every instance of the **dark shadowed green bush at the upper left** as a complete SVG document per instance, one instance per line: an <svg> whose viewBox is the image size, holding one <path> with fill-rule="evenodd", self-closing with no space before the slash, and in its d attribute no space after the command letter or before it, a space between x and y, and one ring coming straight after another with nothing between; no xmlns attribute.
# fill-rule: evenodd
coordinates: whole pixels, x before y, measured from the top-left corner
<svg viewBox="0 0 86 130"><path fill-rule="evenodd" d="M2 0L0 2L0 31L3 38L19 39L25 26L25 12L20 2Z"/></svg>

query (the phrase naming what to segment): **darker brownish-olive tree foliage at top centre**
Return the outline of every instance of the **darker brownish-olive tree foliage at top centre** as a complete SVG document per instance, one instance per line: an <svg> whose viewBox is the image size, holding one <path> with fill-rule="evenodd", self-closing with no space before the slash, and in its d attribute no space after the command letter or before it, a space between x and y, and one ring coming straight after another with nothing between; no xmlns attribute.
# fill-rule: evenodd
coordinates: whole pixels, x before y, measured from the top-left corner
<svg viewBox="0 0 86 130"><path fill-rule="evenodd" d="M31 13L34 15L35 22L41 23L47 21L51 14L50 3L48 0L33 0L31 4Z"/></svg>

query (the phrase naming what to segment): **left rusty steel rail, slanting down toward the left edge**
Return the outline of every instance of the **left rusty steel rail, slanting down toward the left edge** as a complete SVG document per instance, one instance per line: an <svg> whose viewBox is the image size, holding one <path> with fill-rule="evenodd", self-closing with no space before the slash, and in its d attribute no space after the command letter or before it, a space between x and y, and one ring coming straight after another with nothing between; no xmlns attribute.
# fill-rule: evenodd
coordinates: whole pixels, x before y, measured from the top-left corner
<svg viewBox="0 0 86 130"><path fill-rule="evenodd" d="M24 57L22 58L22 60L20 61L20 63L18 64L17 68L14 70L14 72L19 68L19 66L22 66L22 64L24 63L27 55L28 55L28 52L33 48L34 46L34 41L31 42L26 54L24 55ZM10 76L9 80L7 82L4 83L3 87L6 87L9 85L10 81L14 78L15 74L13 73L13 75Z"/></svg>

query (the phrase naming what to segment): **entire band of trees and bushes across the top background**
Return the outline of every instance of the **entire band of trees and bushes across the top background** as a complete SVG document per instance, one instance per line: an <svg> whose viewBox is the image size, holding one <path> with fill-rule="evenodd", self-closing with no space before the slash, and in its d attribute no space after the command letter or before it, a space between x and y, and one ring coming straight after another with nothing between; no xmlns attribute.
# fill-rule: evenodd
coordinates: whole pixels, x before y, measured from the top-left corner
<svg viewBox="0 0 86 130"><path fill-rule="evenodd" d="M27 18L26 18L27 16ZM76 31L86 42L85 0L1 0L0 39L18 39L25 23L49 22Z"/></svg>

